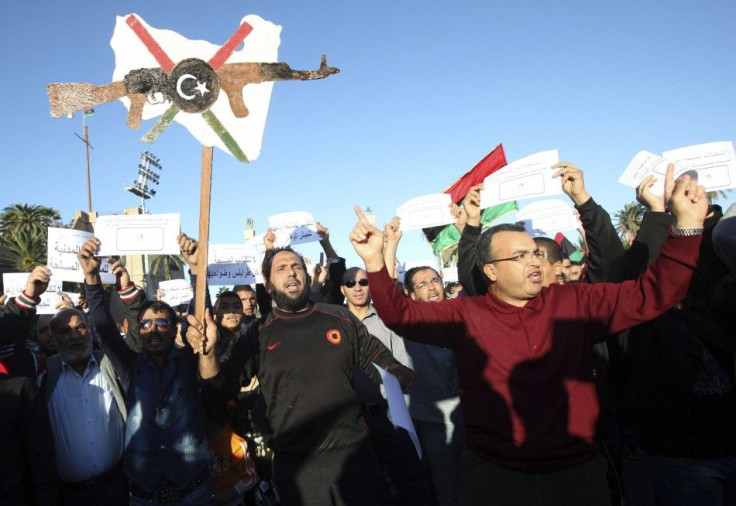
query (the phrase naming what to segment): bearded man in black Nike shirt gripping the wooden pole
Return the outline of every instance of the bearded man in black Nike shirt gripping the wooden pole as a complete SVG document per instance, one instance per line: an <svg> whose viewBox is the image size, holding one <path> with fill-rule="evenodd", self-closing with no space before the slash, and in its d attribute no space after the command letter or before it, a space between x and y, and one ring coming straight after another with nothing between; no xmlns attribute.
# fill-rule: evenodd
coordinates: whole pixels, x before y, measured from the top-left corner
<svg viewBox="0 0 736 506"><path fill-rule="evenodd" d="M379 381L376 363L406 383L403 366L346 308L309 302L306 265L291 248L268 252L261 273L276 306L221 364L210 353L218 335L209 312L203 323L189 316L206 391L230 399L241 374L258 375L282 503L393 504L350 376L357 365Z"/></svg>

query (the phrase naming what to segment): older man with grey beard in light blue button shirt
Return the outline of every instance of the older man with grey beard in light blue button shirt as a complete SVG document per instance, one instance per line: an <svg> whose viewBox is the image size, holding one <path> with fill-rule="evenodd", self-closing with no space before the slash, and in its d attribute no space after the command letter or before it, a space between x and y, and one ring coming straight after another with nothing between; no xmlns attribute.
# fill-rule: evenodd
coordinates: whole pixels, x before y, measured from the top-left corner
<svg viewBox="0 0 736 506"><path fill-rule="evenodd" d="M57 354L46 361L42 386L54 434L59 504L127 504L121 465L125 399L113 366L92 350L82 311L62 309L49 331Z"/></svg>

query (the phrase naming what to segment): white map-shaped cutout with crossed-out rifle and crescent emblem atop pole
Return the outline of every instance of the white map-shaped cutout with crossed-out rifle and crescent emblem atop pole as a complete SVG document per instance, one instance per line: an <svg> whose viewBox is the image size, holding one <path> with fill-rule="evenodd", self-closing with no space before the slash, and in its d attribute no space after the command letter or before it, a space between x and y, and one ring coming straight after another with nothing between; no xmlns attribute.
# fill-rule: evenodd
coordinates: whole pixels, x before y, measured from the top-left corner
<svg viewBox="0 0 736 506"><path fill-rule="evenodd" d="M136 14L118 16L110 45L113 82L52 83L51 115L60 117L121 99L128 126L159 117L143 136L154 142L177 121L203 146L217 146L242 162L258 157L273 81L323 79L339 72L326 58L318 70L292 70L277 62L281 26L256 15L242 19L218 46L153 28ZM243 48L235 49L243 43Z"/></svg>

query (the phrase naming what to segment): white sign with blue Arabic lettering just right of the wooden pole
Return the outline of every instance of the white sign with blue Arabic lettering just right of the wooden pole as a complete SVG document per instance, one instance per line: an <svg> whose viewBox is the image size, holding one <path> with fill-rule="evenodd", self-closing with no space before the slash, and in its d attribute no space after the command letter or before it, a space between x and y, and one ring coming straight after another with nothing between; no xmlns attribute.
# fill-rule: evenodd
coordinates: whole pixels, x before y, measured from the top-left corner
<svg viewBox="0 0 736 506"><path fill-rule="evenodd" d="M210 285L245 285L256 278L248 262L255 262L258 251L245 244L210 244L207 254L207 282Z"/></svg>

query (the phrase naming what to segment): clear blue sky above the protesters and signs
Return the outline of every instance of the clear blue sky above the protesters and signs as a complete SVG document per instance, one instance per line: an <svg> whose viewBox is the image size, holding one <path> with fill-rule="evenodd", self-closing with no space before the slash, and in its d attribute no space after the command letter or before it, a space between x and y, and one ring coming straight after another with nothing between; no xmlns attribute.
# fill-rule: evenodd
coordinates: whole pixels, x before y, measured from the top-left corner
<svg viewBox="0 0 736 506"><path fill-rule="evenodd" d="M509 161L547 149L585 170L611 214L633 200L617 183L642 149L655 153L733 141L736 3L683 0L323 0L6 2L0 42L0 139L6 153L0 208L87 207L81 118L52 119L50 82L110 81L115 16L135 12L156 28L223 43L247 14L283 26L279 60L329 79L276 83L260 157L244 165L215 150L210 239L240 242L246 217L310 211L349 264L352 206L379 222L410 198L444 190L493 147ZM120 212L139 154L164 170L154 213L180 212L197 234L200 145L178 124L147 145L125 126L121 103L89 120L93 208ZM736 192L726 201L736 202ZM523 203L522 203L523 205ZM316 259L314 245L304 249ZM402 260L431 258L418 232Z"/></svg>

